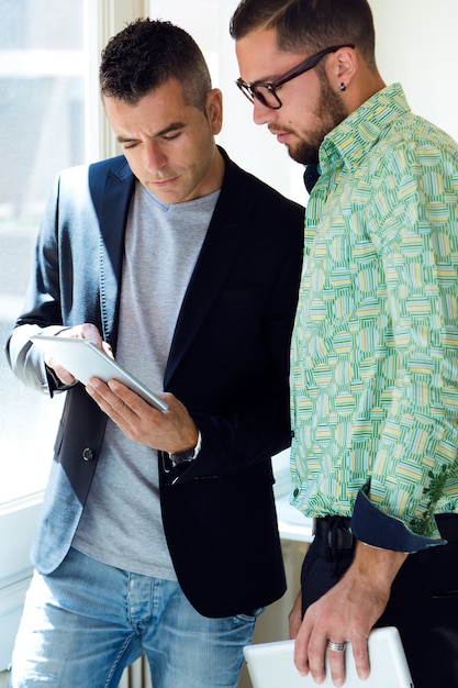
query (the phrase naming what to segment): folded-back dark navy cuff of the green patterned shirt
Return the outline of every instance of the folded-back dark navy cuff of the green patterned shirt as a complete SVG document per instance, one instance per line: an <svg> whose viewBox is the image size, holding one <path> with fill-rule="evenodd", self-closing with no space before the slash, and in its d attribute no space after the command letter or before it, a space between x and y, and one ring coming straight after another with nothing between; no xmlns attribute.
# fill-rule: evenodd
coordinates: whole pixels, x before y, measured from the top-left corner
<svg viewBox="0 0 458 688"><path fill-rule="evenodd" d="M418 552L434 545L445 545L446 540L436 540L416 535L394 517L377 509L368 497L358 492L355 509L351 517L351 533L367 545L394 552Z"/></svg>

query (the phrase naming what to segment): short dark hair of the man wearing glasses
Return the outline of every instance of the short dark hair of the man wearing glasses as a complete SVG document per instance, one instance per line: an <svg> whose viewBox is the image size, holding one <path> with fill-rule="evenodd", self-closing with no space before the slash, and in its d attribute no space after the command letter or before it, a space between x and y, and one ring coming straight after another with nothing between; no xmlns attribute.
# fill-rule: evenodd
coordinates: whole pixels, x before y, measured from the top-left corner
<svg viewBox="0 0 458 688"><path fill-rule="evenodd" d="M375 29L367 0L242 0L231 20L238 41L252 31L273 29L280 51L303 54L354 43L375 67Z"/></svg>

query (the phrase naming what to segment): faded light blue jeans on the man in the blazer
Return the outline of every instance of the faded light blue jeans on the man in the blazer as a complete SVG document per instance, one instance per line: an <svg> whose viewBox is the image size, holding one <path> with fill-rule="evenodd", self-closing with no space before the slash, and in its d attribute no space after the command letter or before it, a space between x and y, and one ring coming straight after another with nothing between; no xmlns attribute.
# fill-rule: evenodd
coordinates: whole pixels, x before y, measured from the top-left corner
<svg viewBox="0 0 458 688"><path fill-rule="evenodd" d="M12 688L115 688L146 654L154 688L237 686L254 615L208 619L180 586L101 564L76 550L35 572L13 652Z"/></svg>

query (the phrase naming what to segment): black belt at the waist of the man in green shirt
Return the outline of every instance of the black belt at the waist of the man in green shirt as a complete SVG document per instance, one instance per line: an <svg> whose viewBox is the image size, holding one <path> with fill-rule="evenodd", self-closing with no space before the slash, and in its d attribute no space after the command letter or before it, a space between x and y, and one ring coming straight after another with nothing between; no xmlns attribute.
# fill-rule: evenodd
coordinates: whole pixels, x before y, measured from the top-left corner
<svg viewBox="0 0 458 688"><path fill-rule="evenodd" d="M458 513L438 513L435 518L442 537L449 543L458 542ZM355 543L349 517L327 515L314 519L313 533L331 550L350 550Z"/></svg>

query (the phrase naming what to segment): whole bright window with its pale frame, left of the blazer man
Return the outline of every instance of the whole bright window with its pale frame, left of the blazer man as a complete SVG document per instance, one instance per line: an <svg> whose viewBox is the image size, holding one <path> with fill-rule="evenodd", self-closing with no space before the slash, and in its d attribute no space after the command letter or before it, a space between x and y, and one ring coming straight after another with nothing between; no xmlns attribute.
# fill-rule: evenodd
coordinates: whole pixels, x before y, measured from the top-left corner
<svg viewBox="0 0 458 688"><path fill-rule="evenodd" d="M115 7L114 7L115 5ZM59 169L114 153L100 112L100 47L143 0L3 0L0 23L0 337L22 309L44 204ZM29 585L30 541L63 399L22 386L0 356L0 672Z"/></svg>

